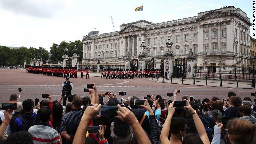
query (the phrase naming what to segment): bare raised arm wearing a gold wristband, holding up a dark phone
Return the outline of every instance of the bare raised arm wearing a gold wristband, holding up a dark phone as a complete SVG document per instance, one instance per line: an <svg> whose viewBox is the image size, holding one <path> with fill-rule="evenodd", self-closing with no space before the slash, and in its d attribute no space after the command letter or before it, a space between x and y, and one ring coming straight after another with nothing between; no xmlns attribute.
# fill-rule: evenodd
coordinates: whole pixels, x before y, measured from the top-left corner
<svg viewBox="0 0 256 144"><path fill-rule="evenodd" d="M193 120L195 122L196 130L198 132L199 137L201 138L204 144L210 144L204 125L199 116L197 115L196 110L194 110L191 107L188 100L184 99L184 101L187 102L187 106L184 106L184 109L188 110L190 115L193 116Z"/></svg>

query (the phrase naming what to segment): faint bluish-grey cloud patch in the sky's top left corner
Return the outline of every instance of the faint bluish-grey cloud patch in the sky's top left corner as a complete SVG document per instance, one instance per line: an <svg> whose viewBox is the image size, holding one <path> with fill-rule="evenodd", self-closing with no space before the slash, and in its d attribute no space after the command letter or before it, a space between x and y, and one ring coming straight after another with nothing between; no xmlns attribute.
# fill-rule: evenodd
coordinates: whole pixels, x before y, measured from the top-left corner
<svg viewBox="0 0 256 144"><path fill-rule="evenodd" d="M15 15L51 18L72 4L71 0L1 0L0 9L12 11Z"/></svg>

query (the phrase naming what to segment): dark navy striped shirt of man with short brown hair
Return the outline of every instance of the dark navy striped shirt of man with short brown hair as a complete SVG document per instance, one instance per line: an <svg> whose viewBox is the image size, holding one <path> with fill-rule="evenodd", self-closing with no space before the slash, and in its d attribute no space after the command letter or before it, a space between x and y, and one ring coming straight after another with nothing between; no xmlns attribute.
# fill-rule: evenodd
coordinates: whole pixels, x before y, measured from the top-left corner
<svg viewBox="0 0 256 144"><path fill-rule="evenodd" d="M67 134L70 135L72 125L76 121L81 121L82 118L82 108L72 109L70 112L65 114L62 117L60 132L67 131ZM66 141L66 144L71 144L71 142Z"/></svg>

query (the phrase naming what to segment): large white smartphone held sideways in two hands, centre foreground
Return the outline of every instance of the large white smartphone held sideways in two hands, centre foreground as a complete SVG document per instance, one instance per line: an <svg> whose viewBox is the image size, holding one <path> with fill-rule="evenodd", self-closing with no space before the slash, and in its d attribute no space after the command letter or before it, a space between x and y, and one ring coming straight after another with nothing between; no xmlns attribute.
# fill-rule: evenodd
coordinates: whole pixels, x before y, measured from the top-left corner
<svg viewBox="0 0 256 144"><path fill-rule="evenodd" d="M118 106L101 106L99 116L118 116Z"/></svg>

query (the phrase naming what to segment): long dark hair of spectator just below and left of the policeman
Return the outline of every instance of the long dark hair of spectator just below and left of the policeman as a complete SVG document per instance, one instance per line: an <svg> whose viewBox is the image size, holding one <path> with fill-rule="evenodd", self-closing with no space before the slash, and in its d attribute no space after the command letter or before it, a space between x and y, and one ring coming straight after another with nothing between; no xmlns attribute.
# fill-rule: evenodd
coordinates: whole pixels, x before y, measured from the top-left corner
<svg viewBox="0 0 256 144"><path fill-rule="evenodd" d="M54 116L53 118L53 124L52 126L56 128L56 126L60 127L61 120L62 120L62 113L63 113L63 107L60 103L56 103L53 105L52 108L52 114Z"/></svg>

